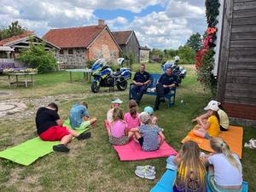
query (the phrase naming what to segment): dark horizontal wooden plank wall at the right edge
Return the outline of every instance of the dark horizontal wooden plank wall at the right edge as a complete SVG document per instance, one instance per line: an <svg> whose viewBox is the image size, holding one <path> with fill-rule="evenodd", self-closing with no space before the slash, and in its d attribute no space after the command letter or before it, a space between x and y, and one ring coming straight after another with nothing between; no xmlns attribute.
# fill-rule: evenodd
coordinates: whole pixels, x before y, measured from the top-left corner
<svg viewBox="0 0 256 192"><path fill-rule="evenodd" d="M256 108L255 0L233 0L224 102Z"/></svg>

